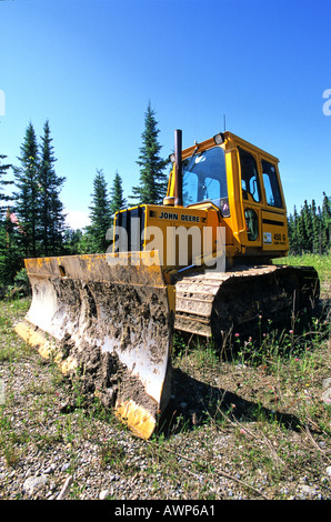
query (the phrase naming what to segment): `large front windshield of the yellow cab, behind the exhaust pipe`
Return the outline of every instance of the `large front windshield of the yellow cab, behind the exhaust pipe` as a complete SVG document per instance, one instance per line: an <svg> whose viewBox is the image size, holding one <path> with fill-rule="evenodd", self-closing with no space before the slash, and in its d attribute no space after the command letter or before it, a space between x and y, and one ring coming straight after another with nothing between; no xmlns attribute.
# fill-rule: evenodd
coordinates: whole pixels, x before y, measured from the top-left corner
<svg viewBox="0 0 331 522"><path fill-rule="evenodd" d="M229 214L224 151L214 147L183 160L183 204L211 201Z"/></svg>

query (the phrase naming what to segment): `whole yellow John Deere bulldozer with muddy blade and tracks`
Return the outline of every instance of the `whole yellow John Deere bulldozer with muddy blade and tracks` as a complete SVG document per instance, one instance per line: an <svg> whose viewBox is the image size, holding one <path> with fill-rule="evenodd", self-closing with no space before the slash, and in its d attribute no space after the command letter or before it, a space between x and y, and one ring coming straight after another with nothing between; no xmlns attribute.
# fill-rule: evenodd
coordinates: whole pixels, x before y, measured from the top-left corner
<svg viewBox="0 0 331 522"><path fill-rule="evenodd" d="M175 331L220 345L319 299L313 268L273 263L289 250L274 155L230 131L182 150L175 130L170 160L163 201L118 211L106 253L24 261L16 327L143 439L170 399Z"/></svg>

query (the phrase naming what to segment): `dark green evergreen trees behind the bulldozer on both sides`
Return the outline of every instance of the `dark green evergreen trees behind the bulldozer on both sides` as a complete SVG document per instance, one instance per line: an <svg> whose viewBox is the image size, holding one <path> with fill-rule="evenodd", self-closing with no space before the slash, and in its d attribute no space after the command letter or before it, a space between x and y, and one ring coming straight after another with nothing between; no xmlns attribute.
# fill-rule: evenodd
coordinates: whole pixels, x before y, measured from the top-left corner
<svg viewBox="0 0 331 522"><path fill-rule="evenodd" d="M116 171L109 185L102 169L92 179L90 225L71 230L66 223L61 189L66 178L57 173L51 129L47 120L37 139L33 124L26 129L18 164L9 164L0 150L0 289L24 282L24 258L106 252L116 211L139 203L160 203L167 191L169 160L161 158L156 113L148 104L142 144L137 160L139 184L132 187L129 202L122 178ZM288 215L290 253L329 253L331 249L331 197L322 204L307 200Z"/></svg>

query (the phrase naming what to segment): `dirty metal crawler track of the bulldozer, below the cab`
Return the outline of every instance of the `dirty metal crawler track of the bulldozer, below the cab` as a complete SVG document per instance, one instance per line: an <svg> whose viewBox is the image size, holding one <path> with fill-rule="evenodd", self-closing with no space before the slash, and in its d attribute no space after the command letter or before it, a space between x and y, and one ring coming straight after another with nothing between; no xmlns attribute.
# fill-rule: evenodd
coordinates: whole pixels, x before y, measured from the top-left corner
<svg viewBox="0 0 331 522"><path fill-rule="evenodd" d="M175 322L180 331L212 337L234 329L252 331L259 317L274 323L313 308L319 279L313 268L237 267L227 272L192 273L175 284Z"/></svg>

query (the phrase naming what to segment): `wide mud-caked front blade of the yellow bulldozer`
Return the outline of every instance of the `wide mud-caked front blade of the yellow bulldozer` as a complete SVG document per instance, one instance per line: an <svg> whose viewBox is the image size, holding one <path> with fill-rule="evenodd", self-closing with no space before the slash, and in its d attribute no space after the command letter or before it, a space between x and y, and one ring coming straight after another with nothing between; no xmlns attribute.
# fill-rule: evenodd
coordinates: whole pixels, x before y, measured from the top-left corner
<svg viewBox="0 0 331 522"><path fill-rule="evenodd" d="M154 253L157 255L157 252ZM17 333L148 439L170 398L172 288L150 253L26 260L32 301Z"/></svg>

